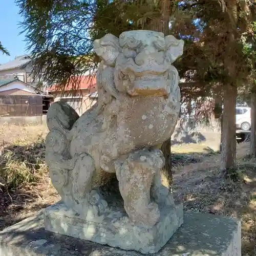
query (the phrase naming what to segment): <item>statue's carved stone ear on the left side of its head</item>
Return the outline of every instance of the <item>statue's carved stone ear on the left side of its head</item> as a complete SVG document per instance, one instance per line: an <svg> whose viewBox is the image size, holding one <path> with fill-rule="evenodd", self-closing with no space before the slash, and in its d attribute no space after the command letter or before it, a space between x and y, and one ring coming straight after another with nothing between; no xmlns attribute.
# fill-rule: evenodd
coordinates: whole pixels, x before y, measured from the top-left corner
<svg viewBox="0 0 256 256"><path fill-rule="evenodd" d="M119 39L112 34L106 34L102 38L94 40L94 51L105 61L106 65L113 67L121 52Z"/></svg>

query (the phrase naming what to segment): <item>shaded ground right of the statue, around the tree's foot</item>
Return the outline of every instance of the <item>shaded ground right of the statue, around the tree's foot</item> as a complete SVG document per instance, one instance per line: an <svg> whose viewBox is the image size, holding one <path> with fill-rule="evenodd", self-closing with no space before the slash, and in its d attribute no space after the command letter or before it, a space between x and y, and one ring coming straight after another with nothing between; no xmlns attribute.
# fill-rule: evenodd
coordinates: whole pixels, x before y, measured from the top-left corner
<svg viewBox="0 0 256 256"><path fill-rule="evenodd" d="M231 216L242 222L242 255L256 255L256 164L240 162L238 182L219 168L191 169L174 176L174 196L184 210Z"/></svg>

